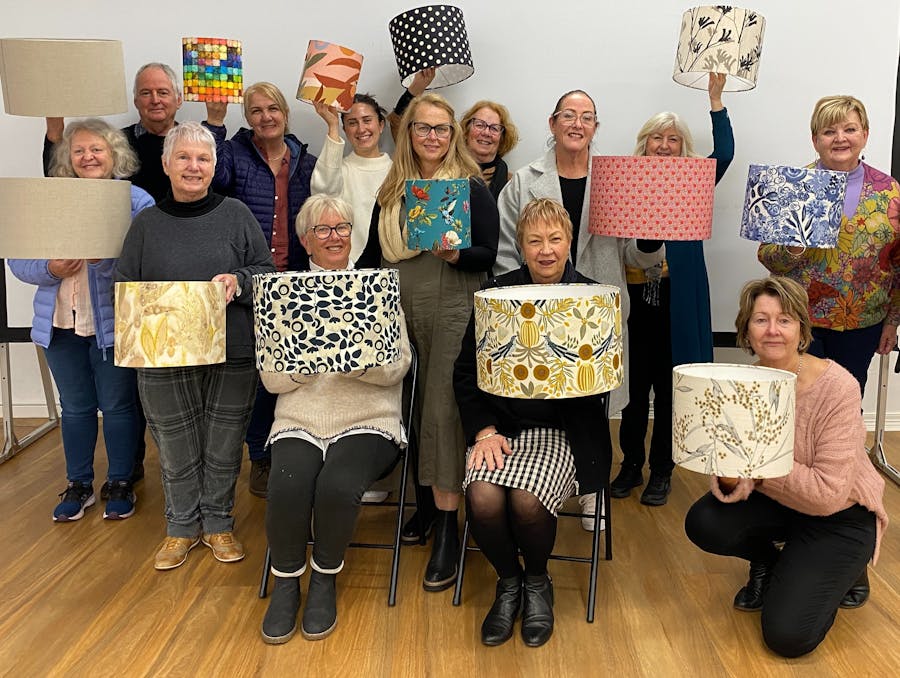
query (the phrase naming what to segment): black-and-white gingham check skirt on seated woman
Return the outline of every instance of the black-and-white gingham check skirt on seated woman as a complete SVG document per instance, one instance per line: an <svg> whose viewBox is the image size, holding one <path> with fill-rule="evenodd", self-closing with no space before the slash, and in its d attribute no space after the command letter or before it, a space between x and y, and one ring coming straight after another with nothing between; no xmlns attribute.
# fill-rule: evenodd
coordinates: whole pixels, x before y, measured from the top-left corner
<svg viewBox="0 0 900 678"><path fill-rule="evenodd" d="M466 471L463 490L475 480L525 490L535 495L554 516L575 494L575 459L564 431L530 428L509 441L512 454L503 458L503 468ZM472 453L470 447L466 458Z"/></svg>

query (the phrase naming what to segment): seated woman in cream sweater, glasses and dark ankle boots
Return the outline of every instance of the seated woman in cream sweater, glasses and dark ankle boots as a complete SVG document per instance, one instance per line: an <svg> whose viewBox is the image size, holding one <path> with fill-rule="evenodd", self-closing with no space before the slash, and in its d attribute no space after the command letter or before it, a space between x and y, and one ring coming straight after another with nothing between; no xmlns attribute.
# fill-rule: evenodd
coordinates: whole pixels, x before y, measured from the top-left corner
<svg viewBox="0 0 900 678"><path fill-rule="evenodd" d="M297 234L313 271L353 268L353 208L340 198L315 194L297 215ZM401 394L409 369L406 321L400 318L400 360L346 374L276 374L262 380L278 394L266 535L275 586L262 624L263 640L286 643L300 608L306 543L313 546L312 574L303 610L303 637L324 638L337 624L335 575L344 567L363 492L397 459L403 440Z"/></svg>

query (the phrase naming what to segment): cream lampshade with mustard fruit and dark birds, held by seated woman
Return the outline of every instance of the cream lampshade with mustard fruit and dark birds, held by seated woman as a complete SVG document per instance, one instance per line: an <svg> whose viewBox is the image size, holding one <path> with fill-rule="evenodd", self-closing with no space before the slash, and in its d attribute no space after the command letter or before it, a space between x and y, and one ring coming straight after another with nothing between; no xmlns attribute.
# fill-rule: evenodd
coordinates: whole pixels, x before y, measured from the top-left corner
<svg viewBox="0 0 900 678"><path fill-rule="evenodd" d="M578 398L622 384L622 314L611 285L517 285L475 293L478 388Z"/></svg>

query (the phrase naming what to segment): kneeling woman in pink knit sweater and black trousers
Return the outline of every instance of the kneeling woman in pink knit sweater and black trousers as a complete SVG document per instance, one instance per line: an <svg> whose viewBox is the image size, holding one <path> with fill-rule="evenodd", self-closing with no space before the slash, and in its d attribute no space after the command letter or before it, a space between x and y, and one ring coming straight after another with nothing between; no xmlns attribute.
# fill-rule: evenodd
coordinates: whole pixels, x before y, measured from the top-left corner
<svg viewBox="0 0 900 678"><path fill-rule="evenodd" d="M814 650L839 606L865 602L866 563L877 561L888 522L884 480L866 456L859 383L806 353L808 303L791 279L754 280L735 320L738 345L759 365L797 374L793 470L765 480L712 476L684 525L704 551L750 561L734 606L761 609L763 639L785 657Z"/></svg>

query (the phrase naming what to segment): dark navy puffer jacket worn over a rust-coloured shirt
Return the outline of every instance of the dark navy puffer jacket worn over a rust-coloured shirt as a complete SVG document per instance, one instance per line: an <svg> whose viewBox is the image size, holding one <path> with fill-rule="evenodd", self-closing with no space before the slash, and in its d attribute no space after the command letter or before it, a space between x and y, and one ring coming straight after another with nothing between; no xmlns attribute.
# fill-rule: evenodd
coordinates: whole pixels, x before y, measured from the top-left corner
<svg viewBox="0 0 900 678"><path fill-rule="evenodd" d="M275 177L269 165L253 145L253 130L241 127L230 141L225 140L224 126L203 123L216 138L216 176L213 190L237 198L250 208L259 222L269 247L272 246L272 217L275 214ZM309 256L294 229L297 213L309 197L309 180L316 166L316 156L307 153L306 144L293 134L285 134L284 142L291 150L288 175L288 269L306 271Z"/></svg>

